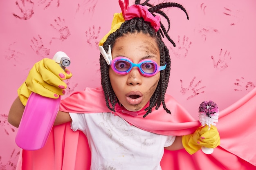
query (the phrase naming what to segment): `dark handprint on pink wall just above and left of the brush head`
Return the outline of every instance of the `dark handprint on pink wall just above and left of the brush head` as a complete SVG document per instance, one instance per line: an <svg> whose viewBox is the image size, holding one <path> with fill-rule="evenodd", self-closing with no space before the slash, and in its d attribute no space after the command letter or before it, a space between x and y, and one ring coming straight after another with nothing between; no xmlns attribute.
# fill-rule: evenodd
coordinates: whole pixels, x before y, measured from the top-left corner
<svg viewBox="0 0 256 170"><path fill-rule="evenodd" d="M189 95L189 97L186 98L187 100L199 95L200 93L204 93L202 89L205 88L206 86L199 87L199 85L202 83L202 80L199 80L198 82L195 83L195 79L196 77L193 77L193 79L191 80L187 88L183 87L183 81L180 80L180 84L181 84L180 92L182 93L182 95L185 95L186 93L190 93L190 94L192 93L191 95Z"/></svg>

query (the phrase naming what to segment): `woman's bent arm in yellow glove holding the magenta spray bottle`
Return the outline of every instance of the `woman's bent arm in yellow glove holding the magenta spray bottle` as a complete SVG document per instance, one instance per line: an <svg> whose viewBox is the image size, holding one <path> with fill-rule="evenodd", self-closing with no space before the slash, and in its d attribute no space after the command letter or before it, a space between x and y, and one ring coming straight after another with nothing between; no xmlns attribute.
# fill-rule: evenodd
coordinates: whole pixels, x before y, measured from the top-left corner
<svg viewBox="0 0 256 170"><path fill-rule="evenodd" d="M31 92L37 93L44 97L58 98L65 94L67 84L63 82L72 76L70 71L61 68L54 60L45 58L37 62L29 71L26 81L18 89L18 97L13 102L8 121L15 127L18 127L27 99ZM47 108L46 108L47 109ZM58 112L54 125L70 121L68 113Z"/></svg>

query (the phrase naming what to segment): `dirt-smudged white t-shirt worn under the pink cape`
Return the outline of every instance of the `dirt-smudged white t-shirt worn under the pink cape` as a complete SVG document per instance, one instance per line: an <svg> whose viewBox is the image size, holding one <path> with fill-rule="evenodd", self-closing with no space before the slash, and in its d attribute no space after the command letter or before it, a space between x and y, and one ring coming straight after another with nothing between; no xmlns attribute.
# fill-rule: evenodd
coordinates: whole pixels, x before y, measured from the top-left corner
<svg viewBox="0 0 256 170"><path fill-rule="evenodd" d="M175 136L141 130L112 113L70 113L71 128L88 138L91 170L161 170L164 147Z"/></svg>

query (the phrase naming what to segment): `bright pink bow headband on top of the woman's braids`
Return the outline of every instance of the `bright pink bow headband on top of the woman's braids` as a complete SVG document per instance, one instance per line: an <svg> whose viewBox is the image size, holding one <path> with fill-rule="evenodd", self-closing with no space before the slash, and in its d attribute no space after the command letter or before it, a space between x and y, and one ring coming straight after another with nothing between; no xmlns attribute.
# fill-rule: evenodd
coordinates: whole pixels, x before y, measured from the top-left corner
<svg viewBox="0 0 256 170"><path fill-rule="evenodd" d="M133 4L128 7L129 0L119 0L119 5L121 7L124 20L131 20L132 18L143 18L144 21L150 22L151 26L157 32L160 28L160 17L153 16L152 13L148 11L148 8L139 4Z"/></svg>

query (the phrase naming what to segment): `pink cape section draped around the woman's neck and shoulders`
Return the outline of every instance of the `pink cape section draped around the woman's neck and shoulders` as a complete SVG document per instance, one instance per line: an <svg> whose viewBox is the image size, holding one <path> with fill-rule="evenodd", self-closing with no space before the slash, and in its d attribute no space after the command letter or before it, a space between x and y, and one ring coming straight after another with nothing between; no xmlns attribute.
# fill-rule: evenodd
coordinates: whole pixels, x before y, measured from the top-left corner
<svg viewBox="0 0 256 170"><path fill-rule="evenodd" d="M152 112L143 117L149 103L137 112L128 111L117 104L114 113L106 106L103 89L99 87L85 88L84 91L75 92L70 97L63 99L60 111L68 113L113 113L133 126L162 135L191 134L200 126L200 122L195 121L170 95L165 96L165 104L171 110L171 115L160 106L157 110L152 108Z"/></svg>

